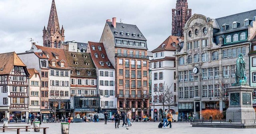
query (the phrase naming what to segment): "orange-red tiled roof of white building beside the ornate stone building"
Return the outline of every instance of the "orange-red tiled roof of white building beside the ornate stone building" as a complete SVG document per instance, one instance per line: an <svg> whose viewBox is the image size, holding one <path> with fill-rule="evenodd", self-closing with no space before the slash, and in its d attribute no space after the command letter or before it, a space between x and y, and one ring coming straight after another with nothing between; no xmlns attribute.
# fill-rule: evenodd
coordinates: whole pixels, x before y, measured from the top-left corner
<svg viewBox="0 0 256 134"><path fill-rule="evenodd" d="M178 38L181 38L184 40L184 37L179 37L179 36L169 36L158 48L154 49L151 52L158 52L158 51L163 51L163 50L171 50L171 51L176 51L175 46L172 46L172 43L178 44L179 40Z"/></svg>

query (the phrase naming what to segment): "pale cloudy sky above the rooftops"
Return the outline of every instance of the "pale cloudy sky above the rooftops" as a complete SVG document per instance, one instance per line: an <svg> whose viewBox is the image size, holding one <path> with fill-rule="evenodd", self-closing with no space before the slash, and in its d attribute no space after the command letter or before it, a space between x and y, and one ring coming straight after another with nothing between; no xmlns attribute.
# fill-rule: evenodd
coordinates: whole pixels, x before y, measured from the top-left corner
<svg viewBox="0 0 256 134"><path fill-rule="evenodd" d="M176 0L55 0L65 40L99 42L107 19L136 24L149 50L171 34L172 8ZM52 0L0 0L0 53L25 52L29 38L42 45ZM256 9L256 0L188 0L192 14L219 18ZM256 16L256 14L255 14Z"/></svg>

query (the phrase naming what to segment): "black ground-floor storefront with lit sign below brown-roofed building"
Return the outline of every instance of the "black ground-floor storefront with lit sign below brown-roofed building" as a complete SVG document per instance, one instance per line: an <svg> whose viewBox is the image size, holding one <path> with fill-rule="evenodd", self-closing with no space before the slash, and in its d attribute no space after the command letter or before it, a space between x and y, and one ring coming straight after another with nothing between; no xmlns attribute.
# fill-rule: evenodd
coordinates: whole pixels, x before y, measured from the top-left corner
<svg viewBox="0 0 256 134"><path fill-rule="evenodd" d="M98 96L73 96L71 98L73 104L74 118L82 118L86 114L100 112L100 97Z"/></svg>

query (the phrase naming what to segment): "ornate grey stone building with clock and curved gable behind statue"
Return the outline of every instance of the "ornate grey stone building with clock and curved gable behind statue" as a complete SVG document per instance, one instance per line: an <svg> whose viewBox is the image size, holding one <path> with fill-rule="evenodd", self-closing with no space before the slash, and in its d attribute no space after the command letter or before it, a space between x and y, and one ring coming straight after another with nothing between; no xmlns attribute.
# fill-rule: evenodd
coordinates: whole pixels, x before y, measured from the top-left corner
<svg viewBox="0 0 256 134"><path fill-rule="evenodd" d="M235 82L236 59L243 54L247 81L256 10L207 18L194 14L184 26L184 45L176 50L179 116L202 118L202 110L226 110L226 88Z"/></svg>

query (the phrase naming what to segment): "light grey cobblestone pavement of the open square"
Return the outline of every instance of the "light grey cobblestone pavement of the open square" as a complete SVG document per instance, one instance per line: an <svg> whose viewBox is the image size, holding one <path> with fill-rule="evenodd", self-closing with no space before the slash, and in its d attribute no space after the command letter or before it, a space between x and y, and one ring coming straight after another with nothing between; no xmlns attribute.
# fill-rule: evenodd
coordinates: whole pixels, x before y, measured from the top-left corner
<svg viewBox="0 0 256 134"><path fill-rule="evenodd" d="M122 127L121 121L119 128L115 128L114 122L108 122L106 125L104 122L71 123L69 134L113 134L113 132L115 134L255 134L256 132L256 128L196 128L185 122L173 122L172 128L158 128L158 124L159 122L133 122L130 127ZM27 124L10 123L9 125L24 126ZM61 134L60 123L42 123L41 127L49 127L46 134ZM16 130L6 130L5 133L0 131L0 134L17 134L17 132ZM34 132L30 129L30 132L25 132L23 129L20 134L43 134L43 130Z"/></svg>

